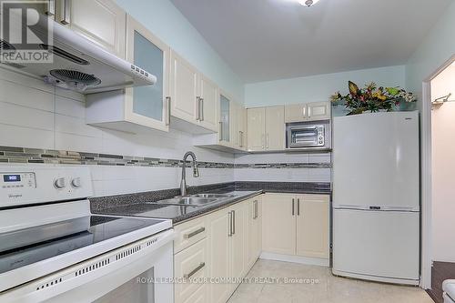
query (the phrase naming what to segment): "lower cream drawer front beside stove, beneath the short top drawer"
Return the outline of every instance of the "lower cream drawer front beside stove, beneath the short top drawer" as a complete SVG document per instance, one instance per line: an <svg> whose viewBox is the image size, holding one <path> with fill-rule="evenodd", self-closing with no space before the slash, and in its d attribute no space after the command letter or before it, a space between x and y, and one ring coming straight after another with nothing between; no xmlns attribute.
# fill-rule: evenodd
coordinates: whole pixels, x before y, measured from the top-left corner
<svg viewBox="0 0 455 303"><path fill-rule="evenodd" d="M192 278L207 278L207 242L203 239L174 256L174 276L187 278L175 285L175 302L185 302L202 284L191 283ZM196 300L197 301L197 300Z"/></svg>

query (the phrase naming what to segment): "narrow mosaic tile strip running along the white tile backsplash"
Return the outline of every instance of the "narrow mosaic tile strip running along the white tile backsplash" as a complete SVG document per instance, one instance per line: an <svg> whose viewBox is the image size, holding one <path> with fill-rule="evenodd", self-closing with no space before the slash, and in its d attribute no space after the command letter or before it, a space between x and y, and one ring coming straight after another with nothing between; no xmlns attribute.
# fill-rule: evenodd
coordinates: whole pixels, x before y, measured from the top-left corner
<svg viewBox="0 0 455 303"><path fill-rule="evenodd" d="M42 163L98 166L181 167L182 160L95 154L65 150L0 146L0 163ZM189 163L189 162L188 162ZM233 164L197 161L200 168L331 168L330 163Z"/></svg>

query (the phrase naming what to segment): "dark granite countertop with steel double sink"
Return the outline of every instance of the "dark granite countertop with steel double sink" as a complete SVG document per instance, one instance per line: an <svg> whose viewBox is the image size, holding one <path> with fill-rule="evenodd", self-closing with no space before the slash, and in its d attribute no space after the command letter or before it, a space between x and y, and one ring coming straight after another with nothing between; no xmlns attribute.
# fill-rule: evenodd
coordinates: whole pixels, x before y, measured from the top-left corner
<svg viewBox="0 0 455 303"><path fill-rule="evenodd" d="M179 194L177 188L145 193L120 195L113 197L95 197L90 199L92 213L126 217L157 217L172 219L179 224L190 218L228 207L262 193L293 194L330 194L329 183L300 182L232 182L201 187L189 187L188 194L198 193L233 193L235 197L221 200L206 207L157 205L157 202Z"/></svg>

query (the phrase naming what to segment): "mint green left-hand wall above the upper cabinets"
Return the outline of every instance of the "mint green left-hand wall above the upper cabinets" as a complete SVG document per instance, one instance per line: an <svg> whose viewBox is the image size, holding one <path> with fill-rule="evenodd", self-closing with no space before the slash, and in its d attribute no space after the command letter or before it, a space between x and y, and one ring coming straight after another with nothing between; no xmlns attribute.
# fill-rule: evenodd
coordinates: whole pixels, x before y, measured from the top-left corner
<svg viewBox="0 0 455 303"><path fill-rule="evenodd" d="M169 0L116 0L180 56L243 102L244 84Z"/></svg>

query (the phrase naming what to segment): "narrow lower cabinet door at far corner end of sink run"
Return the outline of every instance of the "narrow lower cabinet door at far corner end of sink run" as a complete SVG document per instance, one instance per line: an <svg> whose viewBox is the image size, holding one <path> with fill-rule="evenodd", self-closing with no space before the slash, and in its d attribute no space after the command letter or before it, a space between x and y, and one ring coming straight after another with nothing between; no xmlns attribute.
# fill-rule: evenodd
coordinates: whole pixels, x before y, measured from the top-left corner
<svg viewBox="0 0 455 303"><path fill-rule="evenodd" d="M248 271L258 260L262 250L262 197L254 197L248 200L248 217L247 217L247 269Z"/></svg>

